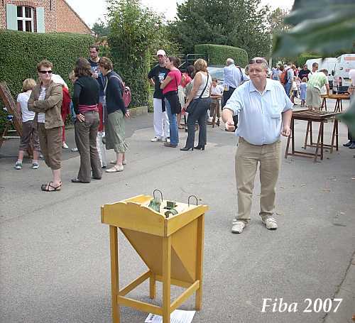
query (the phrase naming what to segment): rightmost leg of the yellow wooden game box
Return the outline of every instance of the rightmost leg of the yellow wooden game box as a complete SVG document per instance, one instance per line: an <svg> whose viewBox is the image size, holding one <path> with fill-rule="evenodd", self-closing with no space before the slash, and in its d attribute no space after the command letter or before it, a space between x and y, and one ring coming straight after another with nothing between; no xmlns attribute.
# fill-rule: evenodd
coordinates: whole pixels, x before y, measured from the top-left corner
<svg viewBox="0 0 355 323"><path fill-rule="evenodd" d="M197 261L196 279L200 280L200 288L196 290L195 310L202 308L202 268L203 268L203 243L204 241L204 214L197 219Z"/></svg>

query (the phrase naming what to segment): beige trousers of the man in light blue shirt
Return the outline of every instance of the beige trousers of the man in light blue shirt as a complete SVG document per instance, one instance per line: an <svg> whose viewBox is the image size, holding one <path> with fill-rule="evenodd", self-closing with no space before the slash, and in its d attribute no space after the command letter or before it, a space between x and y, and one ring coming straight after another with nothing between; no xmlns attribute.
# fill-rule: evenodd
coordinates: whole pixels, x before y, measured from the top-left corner
<svg viewBox="0 0 355 323"><path fill-rule="evenodd" d="M266 219L275 210L276 182L281 163L281 141L270 145L251 145L239 138L236 150L236 190L238 196L238 214L236 219L250 221L251 200L253 197L254 179L260 163L260 216Z"/></svg>

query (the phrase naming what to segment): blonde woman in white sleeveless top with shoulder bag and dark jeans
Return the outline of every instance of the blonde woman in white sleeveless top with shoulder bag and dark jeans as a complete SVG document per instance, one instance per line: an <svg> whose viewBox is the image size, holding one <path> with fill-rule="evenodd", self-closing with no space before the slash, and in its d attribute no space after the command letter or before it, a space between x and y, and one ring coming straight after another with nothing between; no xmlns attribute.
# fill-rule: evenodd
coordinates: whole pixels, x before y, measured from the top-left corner
<svg viewBox="0 0 355 323"><path fill-rule="evenodd" d="M207 62L202 58L195 64L195 77L192 80L192 90L187 97L184 109L189 113L187 117L187 139L184 148L180 150L204 150L207 143L207 110L211 104L212 78L207 72ZM195 144L195 123L200 126L199 143Z"/></svg>

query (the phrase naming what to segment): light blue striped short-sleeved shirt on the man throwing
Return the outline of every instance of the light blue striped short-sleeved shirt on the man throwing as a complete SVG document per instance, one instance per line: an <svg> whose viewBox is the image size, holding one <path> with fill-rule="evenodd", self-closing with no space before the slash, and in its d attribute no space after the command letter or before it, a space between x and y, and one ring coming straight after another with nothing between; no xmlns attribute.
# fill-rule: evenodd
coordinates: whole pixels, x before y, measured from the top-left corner
<svg viewBox="0 0 355 323"><path fill-rule="evenodd" d="M224 109L239 116L236 136L252 145L266 145L280 138L282 113L293 109L293 103L280 82L267 79L263 93L252 81L237 87Z"/></svg>

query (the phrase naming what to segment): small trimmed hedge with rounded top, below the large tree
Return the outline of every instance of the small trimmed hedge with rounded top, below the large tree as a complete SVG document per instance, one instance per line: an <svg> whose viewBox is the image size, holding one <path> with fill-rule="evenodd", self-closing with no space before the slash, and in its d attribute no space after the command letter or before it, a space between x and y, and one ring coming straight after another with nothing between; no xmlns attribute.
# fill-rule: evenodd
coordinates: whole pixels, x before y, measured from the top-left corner
<svg viewBox="0 0 355 323"><path fill-rule="evenodd" d="M206 55L209 59L209 65L225 65L227 58L233 58L236 65L241 67L248 64L248 53L246 53L246 50L233 46L195 45L195 53Z"/></svg>

